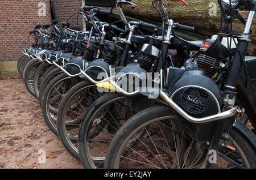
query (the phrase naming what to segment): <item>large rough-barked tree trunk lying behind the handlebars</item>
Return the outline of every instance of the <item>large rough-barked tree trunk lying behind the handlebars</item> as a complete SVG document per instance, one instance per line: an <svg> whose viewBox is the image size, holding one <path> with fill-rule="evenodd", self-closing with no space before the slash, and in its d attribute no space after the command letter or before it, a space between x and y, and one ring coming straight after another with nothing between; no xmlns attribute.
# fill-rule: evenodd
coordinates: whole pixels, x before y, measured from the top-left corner
<svg viewBox="0 0 256 180"><path fill-rule="evenodd" d="M186 0L185 0L186 1ZM164 6L168 12L169 19L174 22L191 25L195 27L195 32L201 35L212 36L220 31L220 8L217 0L187 0L188 6L181 2L164 1ZM162 22L160 15L152 7L152 0L133 0L138 7L132 10L129 5L123 6L123 12L126 15L138 16ZM247 12L241 11L243 18L247 18ZM223 20L224 22L224 20ZM239 20L233 20L233 33L242 33L244 25ZM256 55L256 25L251 27L248 52L250 55Z"/></svg>

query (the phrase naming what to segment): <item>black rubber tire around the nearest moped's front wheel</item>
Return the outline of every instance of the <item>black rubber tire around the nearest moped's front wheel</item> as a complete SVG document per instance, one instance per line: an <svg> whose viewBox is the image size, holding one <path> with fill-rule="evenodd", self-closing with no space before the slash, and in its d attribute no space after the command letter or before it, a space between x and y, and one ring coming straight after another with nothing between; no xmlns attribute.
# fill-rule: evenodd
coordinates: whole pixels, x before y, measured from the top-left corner
<svg viewBox="0 0 256 180"><path fill-rule="evenodd" d="M172 109L170 107L165 105L158 105L158 106L153 106L151 108L143 110L142 112L134 115L134 117L130 118L129 121L127 121L121 128L119 128L117 134L115 134L110 144L108 153L106 155L104 168L107 168L107 169L119 168L119 161L126 160L126 158L124 158L123 156L124 155L123 153L127 152L127 150L125 150L127 147L126 144L129 143L128 147L134 147L134 146L131 146L132 142L131 141L129 142L129 140L133 139L134 135L137 132L142 132L140 130L146 129L148 126L150 126L150 123L159 122L159 121L162 121L159 119L161 118L163 119L166 117L170 118L171 116L174 116L174 113L172 112ZM179 120L176 119L175 121L179 121ZM232 137L233 140L237 143L238 147L242 149L241 154L245 155L245 160L249 162L250 168L255 168L255 162L256 162L255 149L253 149L253 147L251 147L251 145L247 142L247 140L243 138L243 136L239 134L236 130L232 129L229 136ZM137 139L137 138L134 138L134 139ZM137 142L139 141L137 140ZM218 151L220 151L220 148L218 148ZM236 150L237 149L238 148L236 147ZM136 153L138 152L140 152L140 149L137 149ZM127 155L127 153L125 155ZM136 155L137 154L135 154L135 156ZM140 157L140 156L137 155L137 157ZM129 156L129 158L133 158L133 157ZM129 162L126 161L126 165L127 164L129 164ZM139 165L142 165L142 163L139 162Z"/></svg>

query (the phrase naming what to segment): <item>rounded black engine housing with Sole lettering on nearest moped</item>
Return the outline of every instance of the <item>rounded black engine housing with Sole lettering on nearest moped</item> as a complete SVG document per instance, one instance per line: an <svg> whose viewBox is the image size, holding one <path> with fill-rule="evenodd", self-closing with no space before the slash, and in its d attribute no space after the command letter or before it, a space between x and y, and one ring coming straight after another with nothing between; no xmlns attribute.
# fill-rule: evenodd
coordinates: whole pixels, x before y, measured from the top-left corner
<svg viewBox="0 0 256 180"><path fill-rule="evenodd" d="M174 73L168 78L175 81L169 80L170 97L187 114L202 118L220 113L222 104L220 88L212 79L204 75L204 70L172 68L170 71ZM181 118L180 123L184 131L193 139L206 142L212 137L216 122L197 124Z"/></svg>

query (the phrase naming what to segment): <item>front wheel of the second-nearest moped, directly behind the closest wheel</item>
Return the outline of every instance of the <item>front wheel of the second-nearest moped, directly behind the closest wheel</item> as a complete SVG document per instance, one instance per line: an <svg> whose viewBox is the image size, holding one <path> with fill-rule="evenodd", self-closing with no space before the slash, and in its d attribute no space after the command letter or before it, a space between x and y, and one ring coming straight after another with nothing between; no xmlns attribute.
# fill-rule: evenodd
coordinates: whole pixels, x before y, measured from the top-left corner
<svg viewBox="0 0 256 180"><path fill-rule="evenodd" d="M115 132L134 114L133 101L121 93L106 93L90 106L79 130L79 156L84 168L104 165Z"/></svg>

